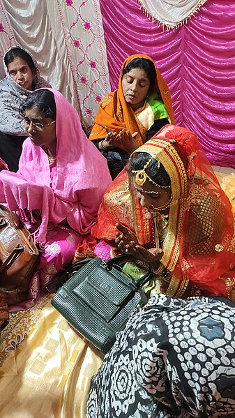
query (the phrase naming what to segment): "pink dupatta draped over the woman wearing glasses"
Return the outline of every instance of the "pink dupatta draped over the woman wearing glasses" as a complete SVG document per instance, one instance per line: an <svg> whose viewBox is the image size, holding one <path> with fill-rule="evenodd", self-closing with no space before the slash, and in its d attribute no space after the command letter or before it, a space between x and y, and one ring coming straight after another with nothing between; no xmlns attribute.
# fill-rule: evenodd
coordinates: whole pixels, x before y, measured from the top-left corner
<svg viewBox="0 0 235 418"><path fill-rule="evenodd" d="M58 224L66 219L79 234L89 233L111 182L107 162L84 134L75 108L59 91L49 90L56 102L57 148L52 179L47 154L30 138L24 141L18 172L0 173L1 203L13 211L40 211L35 241L41 243L50 222Z"/></svg>

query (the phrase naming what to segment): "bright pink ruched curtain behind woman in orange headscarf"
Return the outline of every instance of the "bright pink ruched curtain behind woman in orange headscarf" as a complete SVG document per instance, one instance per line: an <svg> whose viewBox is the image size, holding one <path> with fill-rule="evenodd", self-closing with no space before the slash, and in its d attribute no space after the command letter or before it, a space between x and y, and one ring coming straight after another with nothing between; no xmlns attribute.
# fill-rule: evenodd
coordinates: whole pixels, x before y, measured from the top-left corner
<svg viewBox="0 0 235 418"><path fill-rule="evenodd" d="M179 29L164 31L137 0L100 0L112 89L130 54L149 54L169 84L176 123L199 137L212 164L235 167L235 7L207 1Z"/></svg>

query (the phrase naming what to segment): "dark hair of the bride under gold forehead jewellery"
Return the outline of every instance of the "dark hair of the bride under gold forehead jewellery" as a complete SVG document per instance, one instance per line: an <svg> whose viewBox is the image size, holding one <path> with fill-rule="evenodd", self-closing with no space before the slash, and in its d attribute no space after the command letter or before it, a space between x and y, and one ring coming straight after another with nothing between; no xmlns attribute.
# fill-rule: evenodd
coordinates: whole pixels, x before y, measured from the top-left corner
<svg viewBox="0 0 235 418"><path fill-rule="evenodd" d="M144 165L149 161L151 155L147 152L137 152L132 155L130 158L130 163L128 166L128 172L131 176L132 170L143 170ZM155 181L159 186L171 186L171 180L169 174L167 174L165 167L153 157L149 165L144 170L148 176Z"/></svg>

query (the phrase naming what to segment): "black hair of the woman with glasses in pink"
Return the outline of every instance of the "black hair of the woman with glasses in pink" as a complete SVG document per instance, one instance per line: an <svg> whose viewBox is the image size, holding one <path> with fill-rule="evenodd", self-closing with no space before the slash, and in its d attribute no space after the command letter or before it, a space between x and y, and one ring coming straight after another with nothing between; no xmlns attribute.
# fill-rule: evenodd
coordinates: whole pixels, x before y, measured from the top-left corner
<svg viewBox="0 0 235 418"><path fill-rule="evenodd" d="M30 93L29 96L20 105L19 112L24 117L25 111L36 107L45 117L51 117L56 120L56 102L54 94L47 89L39 89Z"/></svg>

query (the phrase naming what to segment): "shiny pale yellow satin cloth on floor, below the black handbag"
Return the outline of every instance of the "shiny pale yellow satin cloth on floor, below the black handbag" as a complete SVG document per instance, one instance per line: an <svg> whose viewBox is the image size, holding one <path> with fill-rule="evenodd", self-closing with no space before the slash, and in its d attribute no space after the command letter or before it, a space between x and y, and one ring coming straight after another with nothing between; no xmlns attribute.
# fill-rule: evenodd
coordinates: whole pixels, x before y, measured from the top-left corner
<svg viewBox="0 0 235 418"><path fill-rule="evenodd" d="M84 418L103 357L47 302L0 368L0 417Z"/></svg>

